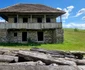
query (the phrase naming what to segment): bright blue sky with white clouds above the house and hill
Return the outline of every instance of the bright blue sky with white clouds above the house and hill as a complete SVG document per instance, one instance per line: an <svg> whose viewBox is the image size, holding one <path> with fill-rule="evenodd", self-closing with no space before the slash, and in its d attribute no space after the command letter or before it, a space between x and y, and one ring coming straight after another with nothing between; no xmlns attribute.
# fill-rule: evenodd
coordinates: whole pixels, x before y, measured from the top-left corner
<svg viewBox="0 0 85 70"><path fill-rule="evenodd" d="M62 16L64 28L85 29L85 0L0 0L0 8L18 3L44 4L64 10L66 12ZM0 22L3 21L0 18Z"/></svg>

